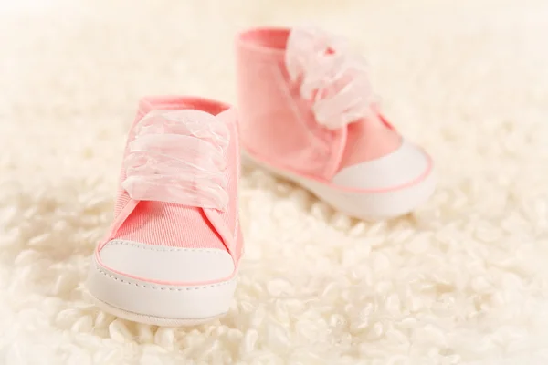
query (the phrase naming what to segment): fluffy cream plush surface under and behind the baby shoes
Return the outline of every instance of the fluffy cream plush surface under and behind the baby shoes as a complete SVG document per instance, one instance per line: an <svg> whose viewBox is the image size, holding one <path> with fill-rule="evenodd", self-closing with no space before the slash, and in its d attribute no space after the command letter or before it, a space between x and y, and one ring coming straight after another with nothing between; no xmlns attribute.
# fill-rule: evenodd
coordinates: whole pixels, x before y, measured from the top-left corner
<svg viewBox="0 0 548 365"><path fill-rule="evenodd" d="M2 2L0 363L545 364L547 18L544 0ZM94 308L82 281L137 99L234 101L237 29L303 23L369 58L386 114L437 162L434 198L364 223L246 169L226 318Z"/></svg>

